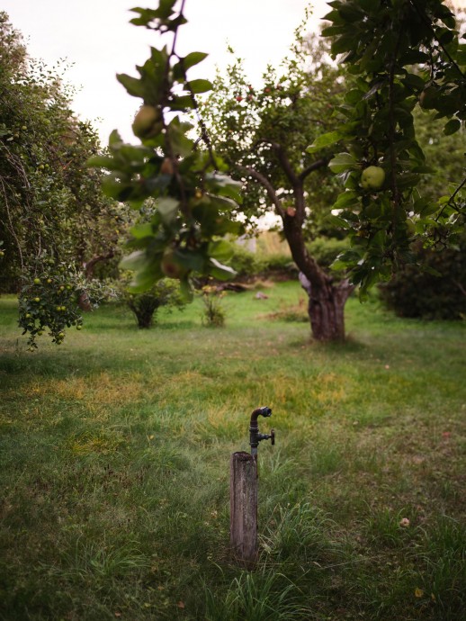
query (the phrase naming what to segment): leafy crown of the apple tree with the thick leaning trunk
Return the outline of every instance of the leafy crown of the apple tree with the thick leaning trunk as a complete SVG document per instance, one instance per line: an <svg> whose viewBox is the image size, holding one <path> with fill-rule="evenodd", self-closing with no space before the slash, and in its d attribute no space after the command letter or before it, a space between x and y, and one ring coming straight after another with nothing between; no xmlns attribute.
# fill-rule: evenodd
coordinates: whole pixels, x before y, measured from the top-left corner
<svg viewBox="0 0 466 621"><path fill-rule="evenodd" d="M332 112L345 80L328 62L325 43L304 29L305 23L281 67L267 67L261 85L250 83L236 58L225 76L218 74L203 110L216 154L243 184L246 222L254 224L266 211L280 217L296 209L294 177L300 177L306 193L302 227L311 238L323 226L339 184L326 166L331 151L318 158L306 148L336 129Z"/></svg>

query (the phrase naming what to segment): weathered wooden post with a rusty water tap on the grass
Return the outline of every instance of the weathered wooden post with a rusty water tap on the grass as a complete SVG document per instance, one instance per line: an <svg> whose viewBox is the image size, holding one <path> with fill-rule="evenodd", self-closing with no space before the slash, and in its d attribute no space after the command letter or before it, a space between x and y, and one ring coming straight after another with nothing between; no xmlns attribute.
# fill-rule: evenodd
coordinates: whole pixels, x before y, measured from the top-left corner
<svg viewBox="0 0 466 621"><path fill-rule="evenodd" d="M257 446L261 440L275 442L273 429L270 435L259 433L257 417L271 415L270 408L254 410L249 426L251 453L241 451L230 459L230 545L236 560L249 568L257 561Z"/></svg>

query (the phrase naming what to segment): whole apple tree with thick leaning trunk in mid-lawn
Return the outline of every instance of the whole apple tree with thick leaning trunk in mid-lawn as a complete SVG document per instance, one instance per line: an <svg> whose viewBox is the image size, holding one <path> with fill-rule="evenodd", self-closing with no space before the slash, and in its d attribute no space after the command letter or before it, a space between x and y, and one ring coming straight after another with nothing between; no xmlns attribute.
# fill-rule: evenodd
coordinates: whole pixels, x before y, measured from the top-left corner
<svg viewBox="0 0 466 621"><path fill-rule="evenodd" d="M280 71L268 67L263 85L250 84L237 59L227 76L217 77L205 107L213 148L243 184L243 215L250 220L273 211L281 220L309 295L312 335L326 341L345 338L344 307L354 287L309 252L319 223L332 220L338 186L328 169L331 151L316 157L306 148L336 130L332 112L347 81L328 62L323 42L302 31Z"/></svg>

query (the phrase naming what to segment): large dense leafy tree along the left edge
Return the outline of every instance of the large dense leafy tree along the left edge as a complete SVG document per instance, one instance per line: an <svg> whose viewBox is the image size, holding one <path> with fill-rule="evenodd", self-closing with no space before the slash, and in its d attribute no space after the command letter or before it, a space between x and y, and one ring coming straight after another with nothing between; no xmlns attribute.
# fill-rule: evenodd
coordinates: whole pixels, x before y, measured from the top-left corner
<svg viewBox="0 0 466 621"><path fill-rule="evenodd" d="M0 290L20 293L33 348L45 331L58 343L81 326L85 274L114 253L124 213L85 166L99 150L94 130L70 110L58 70L28 58L4 13L0 63Z"/></svg>

